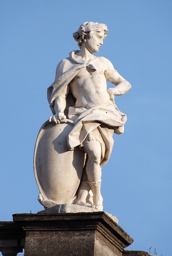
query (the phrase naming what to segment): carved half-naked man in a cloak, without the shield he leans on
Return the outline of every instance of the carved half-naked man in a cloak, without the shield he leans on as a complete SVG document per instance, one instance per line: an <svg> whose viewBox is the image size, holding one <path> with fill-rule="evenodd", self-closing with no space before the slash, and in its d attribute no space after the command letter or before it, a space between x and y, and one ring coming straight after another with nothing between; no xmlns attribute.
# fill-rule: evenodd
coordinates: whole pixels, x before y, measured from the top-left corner
<svg viewBox="0 0 172 256"><path fill-rule="evenodd" d="M68 148L80 146L87 154L86 175L93 192L93 207L98 210L103 209L101 168L110 157L113 132L122 133L126 122L126 115L114 103L114 95L125 94L131 88L109 60L93 55L107 32L105 24L84 22L73 34L80 50L71 52L69 58L58 64L56 79L48 88L48 101L54 114L49 121L60 124L66 118L67 109L68 118L75 123L67 138ZM106 79L116 87L107 90ZM74 100L70 104L69 95ZM80 194L76 204L85 203Z"/></svg>

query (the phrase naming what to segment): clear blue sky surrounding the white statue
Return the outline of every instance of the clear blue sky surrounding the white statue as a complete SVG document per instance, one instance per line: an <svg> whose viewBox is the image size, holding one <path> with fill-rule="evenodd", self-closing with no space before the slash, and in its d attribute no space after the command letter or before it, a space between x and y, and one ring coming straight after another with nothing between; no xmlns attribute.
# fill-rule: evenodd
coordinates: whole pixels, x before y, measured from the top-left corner
<svg viewBox="0 0 172 256"><path fill-rule="evenodd" d="M116 96L125 132L102 169L104 211L134 239L128 250L171 255L170 0L0 1L0 221L43 210L33 172L36 136L51 116L46 98L57 64L77 50L80 24L105 23L96 56L108 58L132 89ZM110 87L110 83L108 83Z"/></svg>

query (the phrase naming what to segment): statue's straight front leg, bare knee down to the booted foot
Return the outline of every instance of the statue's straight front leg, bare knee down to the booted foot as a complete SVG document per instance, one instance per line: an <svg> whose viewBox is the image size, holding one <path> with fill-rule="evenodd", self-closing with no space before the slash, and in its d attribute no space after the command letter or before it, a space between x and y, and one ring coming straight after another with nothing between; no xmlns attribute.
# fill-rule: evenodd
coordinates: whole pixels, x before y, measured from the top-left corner
<svg viewBox="0 0 172 256"><path fill-rule="evenodd" d="M94 206L98 210L103 210L103 198L100 193L102 176L102 171L100 168L102 152L100 142L96 140L90 140L82 147L82 149L88 155L88 161L86 163L86 174L88 177L88 183L93 192Z"/></svg>

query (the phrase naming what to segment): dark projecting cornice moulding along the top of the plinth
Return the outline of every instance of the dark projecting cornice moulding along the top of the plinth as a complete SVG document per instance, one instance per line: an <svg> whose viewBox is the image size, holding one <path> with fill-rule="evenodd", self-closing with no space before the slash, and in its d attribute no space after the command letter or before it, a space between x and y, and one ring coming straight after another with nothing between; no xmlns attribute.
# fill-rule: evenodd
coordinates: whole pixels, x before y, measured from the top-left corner
<svg viewBox="0 0 172 256"><path fill-rule="evenodd" d="M13 214L13 220L20 223L24 230L27 230L27 225L33 230L39 227L41 230L88 229L100 222L121 240L124 248L133 242L133 239L105 212Z"/></svg>

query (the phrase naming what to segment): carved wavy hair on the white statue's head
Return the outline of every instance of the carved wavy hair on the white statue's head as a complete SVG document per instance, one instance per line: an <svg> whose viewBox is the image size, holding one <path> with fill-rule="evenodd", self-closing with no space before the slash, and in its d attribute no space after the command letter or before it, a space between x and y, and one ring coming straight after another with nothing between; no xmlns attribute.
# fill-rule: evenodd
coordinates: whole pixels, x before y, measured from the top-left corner
<svg viewBox="0 0 172 256"><path fill-rule="evenodd" d="M73 33L73 37L78 42L79 48L81 48L83 42L92 38L94 34L101 34L104 38L106 38L108 33L108 28L105 24L98 23L98 22L84 22L78 28L78 31Z"/></svg>

